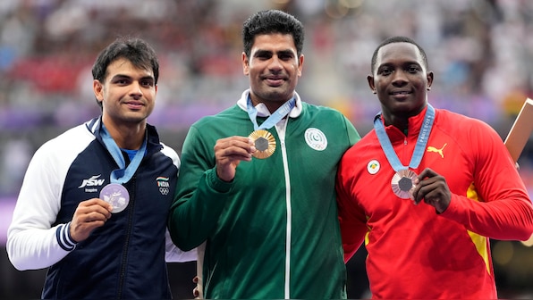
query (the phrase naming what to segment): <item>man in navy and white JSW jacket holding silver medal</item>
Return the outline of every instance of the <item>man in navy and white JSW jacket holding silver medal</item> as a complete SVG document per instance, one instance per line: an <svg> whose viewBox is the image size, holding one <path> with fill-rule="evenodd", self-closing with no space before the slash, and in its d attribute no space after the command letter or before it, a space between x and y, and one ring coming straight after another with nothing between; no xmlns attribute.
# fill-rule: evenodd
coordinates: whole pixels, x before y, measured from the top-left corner
<svg viewBox="0 0 533 300"><path fill-rule="evenodd" d="M171 298L165 260L196 259L173 246L166 230L180 160L146 121L157 75L148 44L115 41L93 67L102 116L32 158L7 252L19 270L49 267L43 298ZM117 170L129 196L120 212L100 196Z"/></svg>

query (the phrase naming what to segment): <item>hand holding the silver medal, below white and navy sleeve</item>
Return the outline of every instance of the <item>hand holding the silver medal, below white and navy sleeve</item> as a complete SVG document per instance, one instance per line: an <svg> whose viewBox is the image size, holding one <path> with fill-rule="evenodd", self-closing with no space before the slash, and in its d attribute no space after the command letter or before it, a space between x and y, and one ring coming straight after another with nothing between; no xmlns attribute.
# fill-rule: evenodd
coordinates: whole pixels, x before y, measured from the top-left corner
<svg viewBox="0 0 533 300"><path fill-rule="evenodd" d="M71 237L80 242L89 237L92 230L103 226L111 218L113 206L98 198L78 204L71 222Z"/></svg>

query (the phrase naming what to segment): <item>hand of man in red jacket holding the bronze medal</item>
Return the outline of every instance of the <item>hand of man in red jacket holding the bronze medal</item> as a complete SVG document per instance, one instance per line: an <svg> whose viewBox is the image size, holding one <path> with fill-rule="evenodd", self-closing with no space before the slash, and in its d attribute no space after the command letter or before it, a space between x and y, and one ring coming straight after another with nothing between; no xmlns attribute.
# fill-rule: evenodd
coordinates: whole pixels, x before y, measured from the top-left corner
<svg viewBox="0 0 533 300"><path fill-rule="evenodd" d="M450 205L452 192L443 176L429 168L426 168L419 174L414 181L413 198L415 204L422 200L425 203L435 207L437 213L443 213Z"/></svg>

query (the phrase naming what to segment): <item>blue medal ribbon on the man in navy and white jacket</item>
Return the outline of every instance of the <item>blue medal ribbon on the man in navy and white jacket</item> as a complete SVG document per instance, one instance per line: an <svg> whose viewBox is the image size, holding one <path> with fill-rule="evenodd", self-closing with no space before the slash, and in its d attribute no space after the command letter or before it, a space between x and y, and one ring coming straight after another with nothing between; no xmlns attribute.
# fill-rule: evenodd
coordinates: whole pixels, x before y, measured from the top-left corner
<svg viewBox="0 0 533 300"><path fill-rule="evenodd" d="M113 137L109 135L109 132L107 131L106 127L102 123L102 139L104 140L104 144L106 144L106 148L109 151L109 153L113 156L114 162L118 164L120 169L116 169L111 172L111 182L113 183L125 183L128 182L131 177L133 177L133 174L135 171L137 171L137 168L139 168L140 161L142 160L142 157L144 156L146 152L146 145L147 145L147 137L144 138L144 141L142 142L142 146L140 146L140 149L137 151L133 159L131 160L130 164L126 168L126 162L124 161L123 153L121 152L121 149L116 145L114 142Z"/></svg>

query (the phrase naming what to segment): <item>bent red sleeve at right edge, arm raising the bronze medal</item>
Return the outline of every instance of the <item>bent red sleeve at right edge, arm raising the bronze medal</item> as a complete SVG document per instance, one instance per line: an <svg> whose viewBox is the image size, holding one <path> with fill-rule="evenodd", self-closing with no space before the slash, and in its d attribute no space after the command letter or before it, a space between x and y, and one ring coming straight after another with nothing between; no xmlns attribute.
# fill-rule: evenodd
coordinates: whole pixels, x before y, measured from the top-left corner
<svg viewBox="0 0 533 300"><path fill-rule="evenodd" d="M533 206L511 155L494 129L486 124L471 128L475 181L467 196L452 196L442 216L485 237L527 240L533 232Z"/></svg>

